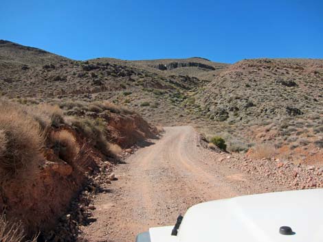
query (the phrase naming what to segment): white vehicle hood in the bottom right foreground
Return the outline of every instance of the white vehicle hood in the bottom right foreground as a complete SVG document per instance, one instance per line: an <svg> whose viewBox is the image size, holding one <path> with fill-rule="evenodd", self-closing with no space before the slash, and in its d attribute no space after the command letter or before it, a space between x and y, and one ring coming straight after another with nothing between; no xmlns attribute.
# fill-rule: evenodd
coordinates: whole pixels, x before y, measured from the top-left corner
<svg viewBox="0 0 323 242"><path fill-rule="evenodd" d="M295 233L282 235L281 226L289 226ZM155 242L154 229L150 232L151 242ZM171 241L322 242L323 189L248 195L197 204L187 211L177 237Z"/></svg>

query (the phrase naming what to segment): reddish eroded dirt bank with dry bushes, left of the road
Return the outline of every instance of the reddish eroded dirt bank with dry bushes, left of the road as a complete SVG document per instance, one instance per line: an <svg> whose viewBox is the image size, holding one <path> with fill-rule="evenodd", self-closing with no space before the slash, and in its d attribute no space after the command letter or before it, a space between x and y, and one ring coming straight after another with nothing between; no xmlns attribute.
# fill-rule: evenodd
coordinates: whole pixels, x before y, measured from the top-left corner
<svg viewBox="0 0 323 242"><path fill-rule="evenodd" d="M40 232L38 241L75 241L87 209L85 216L67 216L69 223L63 215L80 191L89 190L89 178L103 167L111 173L122 148L156 137L156 128L138 114L100 105L67 117L58 107L1 100L0 217L23 230L25 239Z"/></svg>

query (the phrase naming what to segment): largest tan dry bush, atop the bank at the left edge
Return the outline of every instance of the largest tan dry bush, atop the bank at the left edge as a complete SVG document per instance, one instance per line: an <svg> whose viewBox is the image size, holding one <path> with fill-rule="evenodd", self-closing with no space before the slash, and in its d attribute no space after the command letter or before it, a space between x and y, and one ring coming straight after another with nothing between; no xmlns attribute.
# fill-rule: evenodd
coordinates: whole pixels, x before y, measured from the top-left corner
<svg viewBox="0 0 323 242"><path fill-rule="evenodd" d="M9 102L1 101L0 113L1 179L36 171L44 143L38 122Z"/></svg>

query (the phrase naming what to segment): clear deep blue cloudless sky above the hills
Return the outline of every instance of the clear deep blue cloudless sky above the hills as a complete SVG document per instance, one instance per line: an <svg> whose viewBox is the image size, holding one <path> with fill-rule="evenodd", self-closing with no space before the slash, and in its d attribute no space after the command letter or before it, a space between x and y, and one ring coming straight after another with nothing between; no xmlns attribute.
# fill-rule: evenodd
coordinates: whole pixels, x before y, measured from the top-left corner
<svg viewBox="0 0 323 242"><path fill-rule="evenodd" d="M2 0L0 39L76 60L323 58L323 0Z"/></svg>

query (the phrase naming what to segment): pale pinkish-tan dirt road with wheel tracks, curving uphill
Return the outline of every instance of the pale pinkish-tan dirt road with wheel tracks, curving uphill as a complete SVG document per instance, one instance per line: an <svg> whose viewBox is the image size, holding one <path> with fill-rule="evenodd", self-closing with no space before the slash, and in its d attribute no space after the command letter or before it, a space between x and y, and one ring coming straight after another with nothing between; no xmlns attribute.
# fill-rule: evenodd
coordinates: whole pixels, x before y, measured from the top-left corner
<svg viewBox="0 0 323 242"><path fill-rule="evenodd" d="M179 213L212 199L264 191L249 177L219 162L230 154L216 154L199 146L190 126L165 128L159 140L139 149L115 167L118 181L111 192L96 197L97 221L83 228L87 241L135 241L151 226L175 223Z"/></svg>

